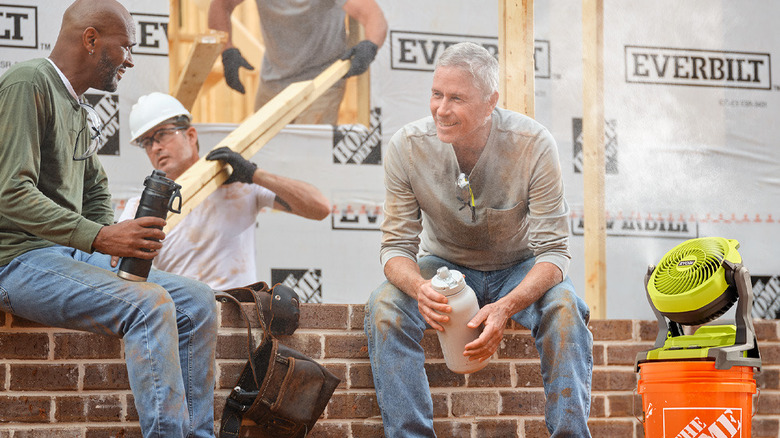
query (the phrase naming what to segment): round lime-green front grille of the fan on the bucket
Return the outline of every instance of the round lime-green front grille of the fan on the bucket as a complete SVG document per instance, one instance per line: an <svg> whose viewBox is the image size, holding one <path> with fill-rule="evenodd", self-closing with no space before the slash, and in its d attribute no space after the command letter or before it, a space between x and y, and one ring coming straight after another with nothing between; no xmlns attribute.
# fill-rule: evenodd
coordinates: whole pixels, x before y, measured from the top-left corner
<svg viewBox="0 0 780 438"><path fill-rule="evenodd" d="M725 239L694 239L667 253L656 267L653 286L664 295L678 295L706 283L728 253Z"/></svg>

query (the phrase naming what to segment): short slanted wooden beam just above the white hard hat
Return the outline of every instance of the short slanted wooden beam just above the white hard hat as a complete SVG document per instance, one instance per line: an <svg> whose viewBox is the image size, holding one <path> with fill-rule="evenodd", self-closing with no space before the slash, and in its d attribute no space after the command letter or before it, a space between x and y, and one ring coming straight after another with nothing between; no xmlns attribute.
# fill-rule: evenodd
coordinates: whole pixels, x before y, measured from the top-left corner
<svg viewBox="0 0 780 438"><path fill-rule="evenodd" d="M217 31L195 38L187 62L171 92L171 95L178 99L188 111L192 111L195 99L198 97L206 77L211 73L214 62L222 53L222 47L226 41L227 34Z"/></svg>

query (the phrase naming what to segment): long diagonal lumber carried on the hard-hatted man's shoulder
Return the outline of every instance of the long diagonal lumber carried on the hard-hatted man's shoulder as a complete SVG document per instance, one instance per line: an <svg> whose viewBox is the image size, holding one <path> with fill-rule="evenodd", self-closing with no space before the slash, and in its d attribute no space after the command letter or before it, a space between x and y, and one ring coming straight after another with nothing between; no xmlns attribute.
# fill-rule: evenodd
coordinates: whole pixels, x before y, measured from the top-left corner
<svg viewBox="0 0 780 438"><path fill-rule="evenodd" d="M312 80L290 84L228 134L214 149L227 146L246 159L252 158L315 99L344 77L349 66L349 61L339 60ZM226 167L229 165L223 165L220 161L207 161L204 156L176 180L182 186L181 213L168 214L166 232L181 222L228 178Z"/></svg>

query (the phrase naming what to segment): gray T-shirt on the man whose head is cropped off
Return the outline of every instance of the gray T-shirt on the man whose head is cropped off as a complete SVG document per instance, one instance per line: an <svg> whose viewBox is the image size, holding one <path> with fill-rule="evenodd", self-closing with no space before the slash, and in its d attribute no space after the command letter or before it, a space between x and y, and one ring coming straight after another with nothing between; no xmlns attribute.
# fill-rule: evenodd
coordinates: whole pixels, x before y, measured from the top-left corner
<svg viewBox="0 0 780 438"><path fill-rule="evenodd" d="M312 79L347 50L346 0L256 0L265 55L261 77L280 87Z"/></svg>

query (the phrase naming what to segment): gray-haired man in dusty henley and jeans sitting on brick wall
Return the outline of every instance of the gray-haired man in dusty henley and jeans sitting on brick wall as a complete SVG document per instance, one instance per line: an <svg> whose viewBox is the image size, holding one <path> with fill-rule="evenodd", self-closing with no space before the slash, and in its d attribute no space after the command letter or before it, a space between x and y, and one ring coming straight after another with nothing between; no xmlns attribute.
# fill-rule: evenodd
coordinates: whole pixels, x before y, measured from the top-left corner
<svg viewBox="0 0 780 438"><path fill-rule="evenodd" d="M387 280L366 306L365 331L385 436L432 437L433 404L420 341L451 311L431 287L437 268L463 273L482 327L463 354L484 361L509 318L541 357L552 436L589 437L593 337L566 272L569 208L555 140L496 107L498 63L472 43L436 64L432 117L410 123L385 154L380 258Z"/></svg>

